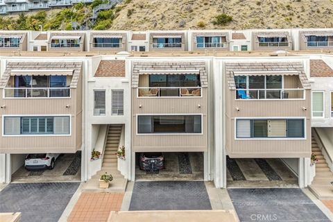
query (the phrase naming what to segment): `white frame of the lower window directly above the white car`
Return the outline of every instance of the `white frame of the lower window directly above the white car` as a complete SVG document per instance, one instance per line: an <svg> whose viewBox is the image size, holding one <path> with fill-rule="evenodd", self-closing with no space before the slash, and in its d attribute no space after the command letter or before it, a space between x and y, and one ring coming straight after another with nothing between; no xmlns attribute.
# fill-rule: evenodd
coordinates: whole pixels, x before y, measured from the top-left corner
<svg viewBox="0 0 333 222"><path fill-rule="evenodd" d="M19 134L19 135L6 135L5 134L5 117L69 117L69 134ZM71 115L69 114L8 114L2 115L2 136L3 137L71 137Z"/></svg>

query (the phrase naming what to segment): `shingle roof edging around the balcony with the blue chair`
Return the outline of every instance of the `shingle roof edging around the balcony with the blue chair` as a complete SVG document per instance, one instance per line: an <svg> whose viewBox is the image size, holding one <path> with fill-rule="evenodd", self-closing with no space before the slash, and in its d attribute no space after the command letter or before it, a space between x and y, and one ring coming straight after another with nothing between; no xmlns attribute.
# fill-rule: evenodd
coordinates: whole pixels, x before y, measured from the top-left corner
<svg viewBox="0 0 333 222"><path fill-rule="evenodd" d="M229 62L225 64L225 71L229 89L236 89L234 83L234 72L237 71L297 71L300 82L304 89L311 89L311 84L307 79L302 62Z"/></svg>

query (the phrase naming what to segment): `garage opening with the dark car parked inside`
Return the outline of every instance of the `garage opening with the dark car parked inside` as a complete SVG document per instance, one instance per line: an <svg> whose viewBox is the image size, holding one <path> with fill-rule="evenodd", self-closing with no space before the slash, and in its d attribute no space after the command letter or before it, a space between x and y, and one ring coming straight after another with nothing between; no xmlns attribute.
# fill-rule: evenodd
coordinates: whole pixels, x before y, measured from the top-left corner
<svg viewBox="0 0 333 222"><path fill-rule="evenodd" d="M135 179L203 180L203 153L135 153Z"/></svg>

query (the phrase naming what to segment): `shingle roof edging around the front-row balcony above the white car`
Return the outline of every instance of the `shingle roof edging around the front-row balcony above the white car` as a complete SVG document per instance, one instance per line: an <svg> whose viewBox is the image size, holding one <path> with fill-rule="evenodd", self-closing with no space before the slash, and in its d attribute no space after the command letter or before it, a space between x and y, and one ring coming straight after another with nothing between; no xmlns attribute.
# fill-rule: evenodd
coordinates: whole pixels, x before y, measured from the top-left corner
<svg viewBox="0 0 333 222"><path fill-rule="evenodd" d="M78 85L78 78L80 78L82 62L8 62L6 70L0 79L0 88L6 87L10 71L12 69L29 70L33 75L33 70L37 69L71 69L74 70L71 78L71 85L69 87L76 88Z"/></svg>

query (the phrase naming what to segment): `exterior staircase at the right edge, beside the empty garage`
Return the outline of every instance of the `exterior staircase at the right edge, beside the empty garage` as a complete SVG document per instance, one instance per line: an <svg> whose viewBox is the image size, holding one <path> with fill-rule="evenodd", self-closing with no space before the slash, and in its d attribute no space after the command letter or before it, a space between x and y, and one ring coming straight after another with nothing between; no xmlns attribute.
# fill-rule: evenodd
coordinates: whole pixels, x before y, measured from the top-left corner
<svg viewBox="0 0 333 222"><path fill-rule="evenodd" d="M311 140L311 151L317 156L318 162L316 163L316 176L314 180L309 185L309 189L314 193L314 195L320 199L332 199L333 198L333 173L328 167L321 148L319 148L316 139L312 136Z"/></svg>

